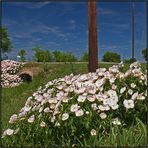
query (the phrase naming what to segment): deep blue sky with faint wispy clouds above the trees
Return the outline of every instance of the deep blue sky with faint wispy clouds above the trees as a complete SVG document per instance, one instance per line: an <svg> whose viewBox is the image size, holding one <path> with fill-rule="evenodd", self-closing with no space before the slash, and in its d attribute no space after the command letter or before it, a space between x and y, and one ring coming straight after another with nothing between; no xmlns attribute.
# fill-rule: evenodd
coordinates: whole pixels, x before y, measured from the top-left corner
<svg viewBox="0 0 148 148"><path fill-rule="evenodd" d="M97 3L99 60L106 51L131 57L132 3ZM72 52L80 57L88 50L87 2L3 2L2 25L8 28L13 44L10 58L16 59L19 49L27 58L32 48ZM135 3L135 57L143 61L141 49L146 47L146 7Z"/></svg>

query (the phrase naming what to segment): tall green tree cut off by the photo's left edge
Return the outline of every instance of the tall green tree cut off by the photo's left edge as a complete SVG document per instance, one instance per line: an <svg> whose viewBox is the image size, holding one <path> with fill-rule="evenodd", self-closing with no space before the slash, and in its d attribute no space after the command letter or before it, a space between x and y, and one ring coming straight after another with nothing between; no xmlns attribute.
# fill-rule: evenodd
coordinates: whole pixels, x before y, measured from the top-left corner
<svg viewBox="0 0 148 148"><path fill-rule="evenodd" d="M1 27L0 28L0 34L1 34L1 38L2 38L2 43L1 43L1 50L2 52L10 52L12 49L12 44L10 41L10 37L7 33L7 29L5 27Z"/></svg>

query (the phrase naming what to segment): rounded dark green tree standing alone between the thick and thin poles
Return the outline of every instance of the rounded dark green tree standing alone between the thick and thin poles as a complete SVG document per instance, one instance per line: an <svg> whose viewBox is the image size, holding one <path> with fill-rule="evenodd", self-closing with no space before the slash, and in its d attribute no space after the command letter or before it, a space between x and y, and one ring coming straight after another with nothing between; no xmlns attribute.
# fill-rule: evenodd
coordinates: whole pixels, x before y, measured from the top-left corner
<svg viewBox="0 0 148 148"><path fill-rule="evenodd" d="M119 63L121 61L121 58L120 58L120 55L118 53L108 51L103 55L102 61Z"/></svg>

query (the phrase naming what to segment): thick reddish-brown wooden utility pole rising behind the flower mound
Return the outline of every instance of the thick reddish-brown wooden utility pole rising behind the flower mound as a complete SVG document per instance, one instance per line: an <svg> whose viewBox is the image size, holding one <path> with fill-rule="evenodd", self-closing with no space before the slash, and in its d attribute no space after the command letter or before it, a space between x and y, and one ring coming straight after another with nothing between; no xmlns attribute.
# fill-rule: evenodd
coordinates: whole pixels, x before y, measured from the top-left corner
<svg viewBox="0 0 148 148"><path fill-rule="evenodd" d="M96 0L88 0L88 41L89 41L89 72L98 68L98 38L97 38Z"/></svg>

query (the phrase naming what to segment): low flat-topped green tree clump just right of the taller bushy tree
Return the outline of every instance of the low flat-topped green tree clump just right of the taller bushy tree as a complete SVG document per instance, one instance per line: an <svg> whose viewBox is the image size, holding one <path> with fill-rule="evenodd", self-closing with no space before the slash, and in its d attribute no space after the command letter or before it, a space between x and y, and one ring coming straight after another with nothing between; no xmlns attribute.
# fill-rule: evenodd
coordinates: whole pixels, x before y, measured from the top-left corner
<svg viewBox="0 0 148 148"><path fill-rule="evenodd" d="M54 51L54 61L56 62L75 62L77 58L72 53L65 53L61 51Z"/></svg>

